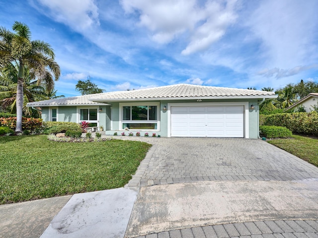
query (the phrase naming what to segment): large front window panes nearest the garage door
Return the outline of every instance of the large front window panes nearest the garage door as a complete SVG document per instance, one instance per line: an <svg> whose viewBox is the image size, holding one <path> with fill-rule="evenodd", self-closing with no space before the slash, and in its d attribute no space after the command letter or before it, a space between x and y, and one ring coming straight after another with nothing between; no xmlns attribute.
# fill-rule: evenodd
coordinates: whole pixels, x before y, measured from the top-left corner
<svg viewBox="0 0 318 238"><path fill-rule="evenodd" d="M122 107L122 129L158 129L157 105L138 105Z"/></svg>

